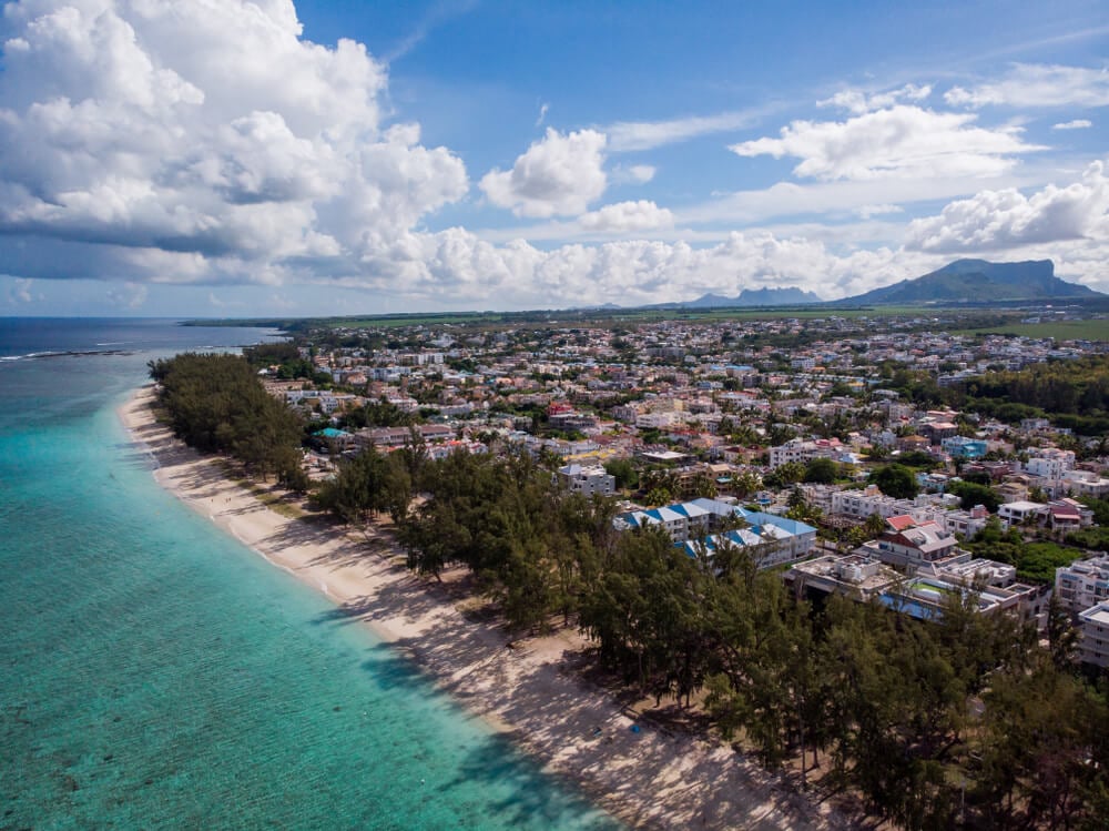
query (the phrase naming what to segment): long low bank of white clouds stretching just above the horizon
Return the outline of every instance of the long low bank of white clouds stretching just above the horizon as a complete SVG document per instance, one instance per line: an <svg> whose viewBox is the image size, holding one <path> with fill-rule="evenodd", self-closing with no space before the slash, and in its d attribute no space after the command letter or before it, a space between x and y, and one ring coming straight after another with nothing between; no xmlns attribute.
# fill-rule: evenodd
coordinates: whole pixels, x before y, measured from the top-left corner
<svg viewBox="0 0 1109 831"><path fill-rule="evenodd" d="M837 297L940 264L932 255L884 247L837 254L823 242L764 231L732 232L705 247L684 241L621 240L542 251L523 240L495 245L462 229L448 229L411 234L376 259L372 268L332 282L377 291L404 286L411 303L441 305L450 297L460 307L474 307L496 297L497 307L537 308L691 300L706 292L734 294L764 285L797 285Z"/></svg>

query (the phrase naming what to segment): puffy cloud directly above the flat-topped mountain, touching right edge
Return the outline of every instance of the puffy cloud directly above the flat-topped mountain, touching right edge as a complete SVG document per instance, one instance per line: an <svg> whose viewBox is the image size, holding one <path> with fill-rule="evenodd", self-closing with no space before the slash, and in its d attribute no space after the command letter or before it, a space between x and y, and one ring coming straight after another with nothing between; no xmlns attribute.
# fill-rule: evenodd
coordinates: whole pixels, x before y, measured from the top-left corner
<svg viewBox="0 0 1109 831"><path fill-rule="evenodd" d="M1050 184L1031 196L983 191L909 223L905 247L936 253L997 251L1074 240L1109 242L1109 179L1102 162L1081 181Z"/></svg>

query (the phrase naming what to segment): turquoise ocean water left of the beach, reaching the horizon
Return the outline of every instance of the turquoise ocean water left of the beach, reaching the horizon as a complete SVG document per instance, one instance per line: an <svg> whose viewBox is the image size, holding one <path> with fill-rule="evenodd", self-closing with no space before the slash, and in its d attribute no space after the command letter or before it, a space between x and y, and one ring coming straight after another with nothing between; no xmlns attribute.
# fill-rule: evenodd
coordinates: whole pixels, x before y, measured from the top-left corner
<svg viewBox="0 0 1109 831"><path fill-rule="evenodd" d="M0 829L615 829L154 483L146 362L274 337L0 318Z"/></svg>

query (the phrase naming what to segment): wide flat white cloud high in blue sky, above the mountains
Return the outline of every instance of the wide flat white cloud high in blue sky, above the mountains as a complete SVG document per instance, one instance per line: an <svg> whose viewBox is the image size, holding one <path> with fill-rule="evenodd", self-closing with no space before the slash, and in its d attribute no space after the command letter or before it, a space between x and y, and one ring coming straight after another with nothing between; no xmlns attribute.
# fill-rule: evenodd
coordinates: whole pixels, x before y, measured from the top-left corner
<svg viewBox="0 0 1109 831"><path fill-rule="evenodd" d="M899 104L844 122L794 121L779 139L733 144L741 156L801 159L793 172L825 181L887 176L994 176L1013 156L1044 148L1021 141L1017 128L975 126L969 113L938 113Z"/></svg>

